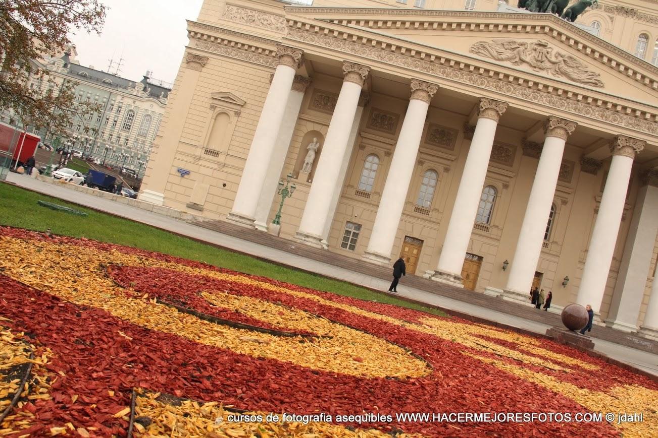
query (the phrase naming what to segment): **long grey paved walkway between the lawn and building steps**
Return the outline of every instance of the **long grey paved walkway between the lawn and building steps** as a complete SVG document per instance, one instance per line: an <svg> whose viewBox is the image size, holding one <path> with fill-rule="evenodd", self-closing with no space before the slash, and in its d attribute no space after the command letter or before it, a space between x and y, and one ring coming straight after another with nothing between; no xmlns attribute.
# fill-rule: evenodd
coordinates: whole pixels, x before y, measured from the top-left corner
<svg viewBox="0 0 658 438"><path fill-rule="evenodd" d="M241 253L247 253L262 259L276 261L276 263L282 265L289 265L291 267L303 269L305 271L311 271L314 273L322 274L324 276L338 278L353 284L359 284L376 290L387 290L388 286L390 285L390 280L384 280L383 278L379 278L376 275L355 272L351 269L345 269L344 267L330 265L328 263L311 259L303 255L291 253L290 251L295 250L294 242L286 241L286 244L289 245L290 248L288 248L288 251L284 251L281 249L270 248L269 246L265 246L256 242L249 242L248 240L230 236L216 230L199 227L198 225L193 225L191 223L181 221L180 219L174 219L172 217L146 211L134 206L120 204L118 202L114 202L113 200L99 198L91 194L78 192L66 187L65 185L52 185L43 181L37 181L36 179L32 179L30 177L26 177L25 175L17 175L15 173L9 173L7 176L7 181L9 183L24 186L25 188L29 188L30 190L35 190L49 196L88 206L89 208L107 211L113 215L126 217L127 219L132 219L134 221L148 225L153 225L154 227L158 227L160 229L182 234L184 236L189 236L197 240L203 240L205 242L209 242L211 244L222 246L231 250L236 250ZM300 247L297 248L297 250L298 252L303 253L306 248ZM370 269L372 269L371 266ZM405 280L407 279L405 278ZM405 280L403 280L403 282L405 282ZM414 283L418 281L418 285L420 286L420 282L422 282L422 280L422 278L418 278L418 280L415 280ZM409 283L411 283L411 281L408 281L406 285L401 284L398 286L398 290L400 291L399 296L414 299L416 301L422 301L428 305L434 305L443 309L448 309L450 311L465 313L467 315L472 315L473 317L483 318L497 322L499 324L514 326L523 330L529 330L531 332L542 335L545 334L546 330L553 325L546 324L545 322L542 322L542 320L533 320L537 319L537 313L539 312L533 311L533 309L528 309L520 305L520 308L528 309L530 312L526 312L526 317L519 315L519 312L516 311L514 312L516 315L496 311L493 310L491 306L482 305L483 303L475 300L472 300L472 302L467 302L449 296L433 294L431 292L427 292L426 290L422 290L421 288L411 287L409 286ZM461 291L463 294L463 290ZM484 294L476 295L478 297L484 297ZM550 318L547 315L542 317ZM627 364L636 366L645 372L649 372L655 376L658 376L658 355L648 353L647 351L640 351L635 348L630 348L625 345L620 345L620 343L605 339L597 338L594 339L594 341L595 351L603 353L612 359L616 359L617 361L626 362Z"/></svg>

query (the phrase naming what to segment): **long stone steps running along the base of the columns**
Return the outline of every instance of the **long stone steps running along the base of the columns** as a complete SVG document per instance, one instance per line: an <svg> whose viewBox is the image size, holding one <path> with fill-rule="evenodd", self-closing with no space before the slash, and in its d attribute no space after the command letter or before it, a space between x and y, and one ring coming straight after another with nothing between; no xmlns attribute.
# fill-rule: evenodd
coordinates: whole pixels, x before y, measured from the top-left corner
<svg viewBox="0 0 658 438"><path fill-rule="evenodd" d="M234 225L232 223L218 220L218 221L193 221L191 222L194 225L203 227L206 229L215 230L222 234L228 234L229 236L234 236L242 240L247 240L256 244L261 244L263 246L268 246L269 248L275 248L276 250L281 250L288 252L294 255L299 255L300 257L305 257L308 259L313 259L326 263L328 265L333 265L336 267L341 267L349 271L356 273L361 273L369 276L374 276L376 278L381 278L382 280L390 281L392 280L392 268L382 267L379 265L374 265L361 259L353 259L342 254L330 252L328 250L321 250L318 248L312 248L305 244L295 242L294 240L288 240L285 238L277 237L272 234L268 234L263 231L256 229L247 229L246 227L241 227L240 225ZM270 260L267 260L270 261ZM271 263L276 263L272 262ZM293 268L295 269L295 268ZM560 318L560 315L556 313L550 313L545 311L539 311L533 307L523 305L522 303L515 303L513 301L503 300L499 297L492 297L480 292L474 292L472 290L465 290L461 288L456 288L455 286L450 286L449 284L443 284L433 280L428 280L422 278L421 276L408 275L405 276L402 280L405 286L412 288L417 288L425 292L430 292L439 296L449 297L456 299L458 301L464 301L473 305L478 305L481 307L486 307L493 311L498 311L501 313L506 313L507 315L513 315L519 318L525 318L534 322L540 322L542 324L547 324L549 326L557 326L563 328L563 324ZM399 297L405 301L412 301L426 305L426 307L436 307L430 306L421 301L415 301L413 299L405 299L404 297ZM529 298L529 296L528 296ZM442 309L442 308L440 308ZM477 317L472 317L464 313L450 311L447 309L442 309L445 313L453 315L455 317L461 317L475 322L486 322L487 324L493 324L494 326L499 326L501 328L507 328L505 324L498 324L490 320L484 320ZM517 331L526 332L526 330ZM528 332L530 333L530 332ZM534 332L532 334L535 334ZM620 345L625 345L626 347L632 347L642 351L647 351L649 353L658 354L658 342L651 339L643 338L637 334L630 334L625 332L620 332L619 330L613 330L605 326L594 326L592 332L588 334L592 338L604 339L606 341L611 341L618 343Z"/></svg>

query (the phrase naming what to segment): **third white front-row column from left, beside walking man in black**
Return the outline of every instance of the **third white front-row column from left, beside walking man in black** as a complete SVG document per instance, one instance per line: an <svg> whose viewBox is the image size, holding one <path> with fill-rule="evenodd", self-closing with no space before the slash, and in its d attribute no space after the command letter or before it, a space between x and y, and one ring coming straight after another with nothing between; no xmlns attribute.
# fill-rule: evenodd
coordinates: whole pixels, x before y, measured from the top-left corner
<svg viewBox="0 0 658 438"><path fill-rule="evenodd" d="M430 101L438 89L439 87L432 83L418 79L411 80L409 108L395 145L392 165L386 177L382 200L368 241L368 249L363 255L363 259L367 261L382 265L388 265L391 261L393 241L418 156L422 127L425 125Z"/></svg>

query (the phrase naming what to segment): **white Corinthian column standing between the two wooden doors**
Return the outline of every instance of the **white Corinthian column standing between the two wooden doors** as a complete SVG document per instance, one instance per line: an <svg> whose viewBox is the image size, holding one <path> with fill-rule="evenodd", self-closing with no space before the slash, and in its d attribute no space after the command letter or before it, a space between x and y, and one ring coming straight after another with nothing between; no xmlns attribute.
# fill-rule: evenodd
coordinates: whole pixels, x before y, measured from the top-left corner
<svg viewBox="0 0 658 438"><path fill-rule="evenodd" d="M439 263L436 271L426 273L426 276L432 280L453 286L464 286L461 282L461 268L464 265L468 239L478 213L478 203L482 196L489 157L492 154L495 129L505 110L507 110L506 103L480 98L478 123L475 126L473 139L470 141Z"/></svg>

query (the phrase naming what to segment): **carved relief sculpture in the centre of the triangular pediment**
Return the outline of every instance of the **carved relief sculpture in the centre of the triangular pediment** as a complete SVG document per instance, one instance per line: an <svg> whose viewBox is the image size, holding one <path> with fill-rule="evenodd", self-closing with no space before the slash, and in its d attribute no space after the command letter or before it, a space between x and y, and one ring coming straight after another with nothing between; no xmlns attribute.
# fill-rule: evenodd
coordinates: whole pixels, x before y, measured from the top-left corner
<svg viewBox="0 0 658 438"><path fill-rule="evenodd" d="M470 47L470 53L511 62L515 66L527 65L536 72L547 72L555 77L566 77L571 81L603 87L600 74L589 70L578 58L569 53L553 50L548 41L516 41L494 39L478 41Z"/></svg>

